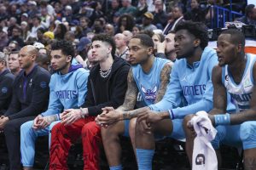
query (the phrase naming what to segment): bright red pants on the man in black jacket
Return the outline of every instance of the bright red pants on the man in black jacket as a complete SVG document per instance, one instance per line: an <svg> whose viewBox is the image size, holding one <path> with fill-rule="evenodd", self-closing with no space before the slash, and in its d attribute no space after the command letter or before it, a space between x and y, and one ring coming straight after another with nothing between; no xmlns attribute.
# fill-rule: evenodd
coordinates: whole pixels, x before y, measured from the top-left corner
<svg viewBox="0 0 256 170"><path fill-rule="evenodd" d="M96 125L94 116L73 122L70 126L56 124L51 131L49 170L67 170L68 151L73 143L82 137L84 170L100 169L101 127Z"/></svg>

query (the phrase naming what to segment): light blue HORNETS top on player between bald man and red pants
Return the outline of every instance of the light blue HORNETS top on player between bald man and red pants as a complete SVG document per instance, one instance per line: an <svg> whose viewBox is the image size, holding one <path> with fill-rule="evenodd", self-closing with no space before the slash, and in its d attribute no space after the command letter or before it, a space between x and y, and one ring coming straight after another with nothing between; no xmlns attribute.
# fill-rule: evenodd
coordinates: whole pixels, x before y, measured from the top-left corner
<svg viewBox="0 0 256 170"><path fill-rule="evenodd" d="M59 114L70 108L79 108L84 104L87 93L89 71L82 65L71 65L65 75L55 72L49 82L49 106L43 116Z"/></svg>

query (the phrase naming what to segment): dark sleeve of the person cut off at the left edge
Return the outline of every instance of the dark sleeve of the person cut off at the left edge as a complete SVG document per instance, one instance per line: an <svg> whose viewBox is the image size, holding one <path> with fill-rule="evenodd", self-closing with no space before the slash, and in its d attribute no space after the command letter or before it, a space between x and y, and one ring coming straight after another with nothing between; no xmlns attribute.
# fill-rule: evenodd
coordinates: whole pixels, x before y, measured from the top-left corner
<svg viewBox="0 0 256 170"><path fill-rule="evenodd" d="M13 77L5 77L0 84L0 110L6 109L9 105L9 99L13 91Z"/></svg>

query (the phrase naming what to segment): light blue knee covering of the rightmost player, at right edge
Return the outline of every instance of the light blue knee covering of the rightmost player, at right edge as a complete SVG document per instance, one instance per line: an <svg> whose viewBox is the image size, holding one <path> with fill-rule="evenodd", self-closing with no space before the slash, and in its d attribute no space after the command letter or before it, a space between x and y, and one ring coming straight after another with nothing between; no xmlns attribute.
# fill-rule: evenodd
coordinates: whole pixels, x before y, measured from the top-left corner
<svg viewBox="0 0 256 170"><path fill-rule="evenodd" d="M243 122L240 127L243 149L256 148L256 122Z"/></svg>

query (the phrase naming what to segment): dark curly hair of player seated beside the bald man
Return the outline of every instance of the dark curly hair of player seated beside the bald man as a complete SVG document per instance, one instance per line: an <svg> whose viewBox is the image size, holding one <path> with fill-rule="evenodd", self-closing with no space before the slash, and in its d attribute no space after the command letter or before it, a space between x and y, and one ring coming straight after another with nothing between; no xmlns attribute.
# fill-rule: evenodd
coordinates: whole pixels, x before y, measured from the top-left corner
<svg viewBox="0 0 256 170"><path fill-rule="evenodd" d="M51 44L51 50L58 50L58 49L61 49L62 54L70 55L73 59L75 50L73 48L72 42L69 42L66 40L54 41Z"/></svg>

